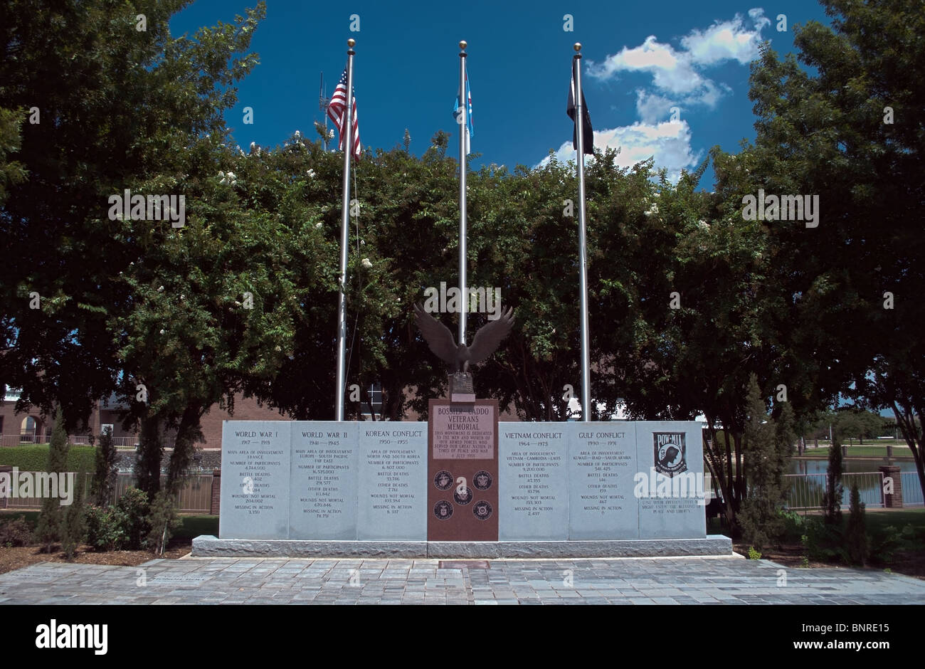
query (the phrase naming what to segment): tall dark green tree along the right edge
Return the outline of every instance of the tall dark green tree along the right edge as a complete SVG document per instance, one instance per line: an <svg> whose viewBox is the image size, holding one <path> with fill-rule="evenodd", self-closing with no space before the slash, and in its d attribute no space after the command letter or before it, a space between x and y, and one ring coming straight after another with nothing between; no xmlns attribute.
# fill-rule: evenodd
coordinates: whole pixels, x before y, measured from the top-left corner
<svg viewBox="0 0 925 669"><path fill-rule="evenodd" d="M925 16L916 0L822 4L831 27L794 26L798 55L765 48L753 68L758 133L740 195L819 196L816 229L770 226L797 307L788 339L815 392L853 382L859 403L894 411L925 490Z"/></svg>

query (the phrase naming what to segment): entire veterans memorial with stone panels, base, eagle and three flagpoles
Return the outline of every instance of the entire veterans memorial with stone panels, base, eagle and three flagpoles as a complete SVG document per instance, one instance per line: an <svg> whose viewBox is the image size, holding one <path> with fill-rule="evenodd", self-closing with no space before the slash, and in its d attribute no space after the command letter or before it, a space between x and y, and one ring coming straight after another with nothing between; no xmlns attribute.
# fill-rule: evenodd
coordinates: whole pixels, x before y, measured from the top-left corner
<svg viewBox="0 0 925 669"><path fill-rule="evenodd" d="M348 41L341 137L352 137L353 40ZM219 536L193 555L368 557L619 557L730 555L707 537L703 437L695 421L591 422L587 332L581 44L574 45L568 113L579 177L582 422L499 423L476 399L470 365L513 326L508 309L466 345L466 155L471 101L460 43L459 338L414 306L430 350L451 365L449 397L428 420L344 417L349 174L344 151L338 360L334 421L225 421ZM468 104L467 104L468 103ZM576 119L584 119L578 122ZM586 128L585 128L586 126Z"/></svg>

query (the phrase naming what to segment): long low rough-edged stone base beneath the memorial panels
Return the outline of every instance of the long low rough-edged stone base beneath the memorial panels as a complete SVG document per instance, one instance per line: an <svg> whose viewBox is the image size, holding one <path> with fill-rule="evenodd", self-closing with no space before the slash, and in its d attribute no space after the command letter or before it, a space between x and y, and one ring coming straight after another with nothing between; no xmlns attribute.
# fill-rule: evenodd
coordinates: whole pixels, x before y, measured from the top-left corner
<svg viewBox="0 0 925 669"><path fill-rule="evenodd" d="M290 539L192 539L193 557L310 558L605 558L733 555L733 541L626 539L620 541L313 541Z"/></svg>

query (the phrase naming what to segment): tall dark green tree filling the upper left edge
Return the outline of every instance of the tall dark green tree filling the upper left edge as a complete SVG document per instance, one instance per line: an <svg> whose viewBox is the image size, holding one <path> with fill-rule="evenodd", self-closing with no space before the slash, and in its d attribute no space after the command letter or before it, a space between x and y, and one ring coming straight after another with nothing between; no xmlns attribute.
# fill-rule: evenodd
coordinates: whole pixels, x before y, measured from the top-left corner
<svg viewBox="0 0 925 669"><path fill-rule="evenodd" d="M5 382L21 389L19 409L60 405L68 428L123 374L113 339L135 296L119 273L177 234L169 221L111 219L109 196L193 191L200 175L182 167L206 135L222 136L233 83L256 64L236 54L263 4L232 25L174 38L168 21L188 4L13 0L0 8L0 109L39 113L37 123L18 119L21 142L9 157L29 179L9 180L0 204ZM145 31L136 30L138 13Z"/></svg>

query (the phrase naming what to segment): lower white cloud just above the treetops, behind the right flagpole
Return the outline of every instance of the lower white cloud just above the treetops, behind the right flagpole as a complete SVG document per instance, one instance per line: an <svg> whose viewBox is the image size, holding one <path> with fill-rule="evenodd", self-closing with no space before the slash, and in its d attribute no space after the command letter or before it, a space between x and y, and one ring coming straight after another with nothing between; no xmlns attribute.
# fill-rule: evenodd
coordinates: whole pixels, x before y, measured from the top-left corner
<svg viewBox="0 0 925 669"><path fill-rule="evenodd" d="M636 163L655 158L655 168L666 167L668 178L674 182L681 178L681 170L696 167L698 155L691 149L691 130L687 122L677 121L648 124L634 123L610 130L594 131L594 146L601 151L619 148L614 163L619 167L633 167ZM567 162L575 159L572 141L564 142L555 152L556 159ZM586 161L593 160L586 156ZM549 163L549 156L540 162Z"/></svg>

